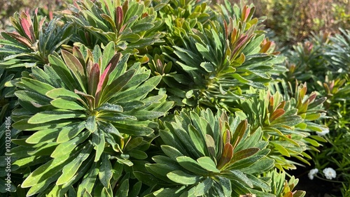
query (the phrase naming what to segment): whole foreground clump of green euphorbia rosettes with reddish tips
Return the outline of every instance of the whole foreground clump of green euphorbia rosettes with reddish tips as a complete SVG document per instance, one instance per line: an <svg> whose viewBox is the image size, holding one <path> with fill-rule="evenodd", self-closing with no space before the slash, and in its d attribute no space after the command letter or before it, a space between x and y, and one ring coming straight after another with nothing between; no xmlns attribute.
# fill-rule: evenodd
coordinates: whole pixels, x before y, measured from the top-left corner
<svg viewBox="0 0 350 197"><path fill-rule="evenodd" d="M21 36L1 41L3 68L31 67L1 76L18 98L6 154L16 192L280 194L284 177L271 184L269 172L302 154L307 135L295 128L318 117L305 110L316 100L265 94L285 69L254 7L209 3L83 0L48 27L20 15Z"/></svg>

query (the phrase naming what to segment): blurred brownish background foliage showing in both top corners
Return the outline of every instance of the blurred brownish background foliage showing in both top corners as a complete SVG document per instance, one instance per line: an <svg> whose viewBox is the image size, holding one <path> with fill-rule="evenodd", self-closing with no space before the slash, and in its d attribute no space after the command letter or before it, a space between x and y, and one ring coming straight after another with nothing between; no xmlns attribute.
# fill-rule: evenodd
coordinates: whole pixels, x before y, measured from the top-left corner
<svg viewBox="0 0 350 197"><path fill-rule="evenodd" d="M73 0L0 0L0 31L10 29L7 20L18 10L41 8L45 15L62 10ZM241 0L231 0L240 3ZM265 17L265 29L280 45L295 44L311 36L312 32L339 33L339 28L350 27L349 0L244 0L257 8L255 17ZM212 1L213 4L223 0ZM277 39L276 39L277 38Z"/></svg>

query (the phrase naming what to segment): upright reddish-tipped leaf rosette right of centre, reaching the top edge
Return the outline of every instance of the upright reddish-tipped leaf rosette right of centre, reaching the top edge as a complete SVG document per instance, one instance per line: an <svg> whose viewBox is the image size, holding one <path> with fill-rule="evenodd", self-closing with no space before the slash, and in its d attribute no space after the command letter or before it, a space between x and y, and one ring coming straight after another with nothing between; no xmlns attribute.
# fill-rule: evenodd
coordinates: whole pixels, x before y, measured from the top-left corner
<svg viewBox="0 0 350 197"><path fill-rule="evenodd" d="M215 20L190 29L182 44L162 47L176 71L174 80L165 81L167 91L184 104L231 111L232 103L253 96L246 92L249 87L267 89L272 74L281 71L283 57L272 52L272 43L257 30L254 7L234 8L230 12L227 2Z"/></svg>

